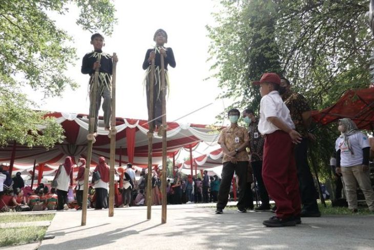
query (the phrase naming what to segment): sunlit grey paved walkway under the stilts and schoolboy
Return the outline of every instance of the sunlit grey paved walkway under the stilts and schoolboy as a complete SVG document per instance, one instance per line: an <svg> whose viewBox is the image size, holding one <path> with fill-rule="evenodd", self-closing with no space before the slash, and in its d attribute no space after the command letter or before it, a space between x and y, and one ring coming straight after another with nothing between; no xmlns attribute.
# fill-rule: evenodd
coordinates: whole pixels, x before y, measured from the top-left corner
<svg viewBox="0 0 374 250"><path fill-rule="evenodd" d="M294 227L267 228L273 213L237 213L195 204L169 205L161 224L161 206L89 210L80 226L80 211L60 211L38 249L373 249L374 216L303 218Z"/></svg>

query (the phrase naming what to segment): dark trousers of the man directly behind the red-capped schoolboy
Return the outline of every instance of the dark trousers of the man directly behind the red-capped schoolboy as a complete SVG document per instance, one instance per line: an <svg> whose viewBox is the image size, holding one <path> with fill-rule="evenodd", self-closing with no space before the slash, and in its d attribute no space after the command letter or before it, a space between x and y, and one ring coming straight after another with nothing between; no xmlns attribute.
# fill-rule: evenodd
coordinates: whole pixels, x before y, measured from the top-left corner
<svg viewBox="0 0 374 250"><path fill-rule="evenodd" d="M317 204L318 193L308 165L307 153L308 139L303 138L301 143L295 146L297 178L299 179L302 209L306 211L319 211Z"/></svg>

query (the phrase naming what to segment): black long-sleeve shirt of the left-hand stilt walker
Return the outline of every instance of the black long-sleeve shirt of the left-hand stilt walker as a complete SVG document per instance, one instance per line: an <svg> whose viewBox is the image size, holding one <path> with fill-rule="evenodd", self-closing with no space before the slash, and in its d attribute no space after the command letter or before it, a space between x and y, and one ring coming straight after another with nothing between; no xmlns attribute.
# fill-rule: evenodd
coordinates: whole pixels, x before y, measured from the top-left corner
<svg viewBox="0 0 374 250"><path fill-rule="evenodd" d="M113 62L112 62L112 56L107 53L102 53L101 50L95 50L92 52L87 53L82 60L82 68L81 72L83 74L90 74L92 75L95 70L93 69L93 65L96 62L97 56L101 54L101 60L100 60L100 70L99 72L112 74L113 73Z"/></svg>

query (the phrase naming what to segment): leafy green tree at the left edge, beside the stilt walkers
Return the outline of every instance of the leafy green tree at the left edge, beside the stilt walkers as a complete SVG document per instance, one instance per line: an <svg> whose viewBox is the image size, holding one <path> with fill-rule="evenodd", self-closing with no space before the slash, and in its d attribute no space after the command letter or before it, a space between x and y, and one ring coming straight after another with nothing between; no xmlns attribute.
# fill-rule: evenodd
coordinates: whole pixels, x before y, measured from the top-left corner
<svg viewBox="0 0 374 250"><path fill-rule="evenodd" d="M48 16L66 14L71 4L80 9L76 23L82 29L112 33L116 19L109 0L5 0L0 5L0 145L15 140L29 146L52 146L61 140L63 130L44 120L43 113L31 110L31 102L20 88L29 85L48 97L60 95L66 87L76 87L64 73L76 59L75 48L68 45L73 39ZM23 124L16 120L20 118L17 114L28 116ZM46 126L43 139L36 132L36 125ZM30 127L32 134L26 140L20 133L25 132L25 127Z"/></svg>

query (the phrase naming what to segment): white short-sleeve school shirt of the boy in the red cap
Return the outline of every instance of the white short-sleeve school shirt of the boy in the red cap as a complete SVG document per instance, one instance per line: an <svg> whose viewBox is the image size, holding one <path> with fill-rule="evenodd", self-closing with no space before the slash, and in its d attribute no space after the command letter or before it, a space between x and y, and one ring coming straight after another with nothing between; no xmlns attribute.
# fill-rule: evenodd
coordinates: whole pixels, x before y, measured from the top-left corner
<svg viewBox="0 0 374 250"><path fill-rule="evenodd" d="M278 91L275 90L261 98L260 120L258 122L258 131L261 134L269 134L279 130L277 126L267 121L269 117L277 117L290 128L295 128L287 106L284 104Z"/></svg>

